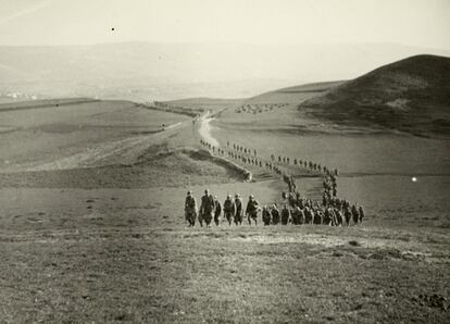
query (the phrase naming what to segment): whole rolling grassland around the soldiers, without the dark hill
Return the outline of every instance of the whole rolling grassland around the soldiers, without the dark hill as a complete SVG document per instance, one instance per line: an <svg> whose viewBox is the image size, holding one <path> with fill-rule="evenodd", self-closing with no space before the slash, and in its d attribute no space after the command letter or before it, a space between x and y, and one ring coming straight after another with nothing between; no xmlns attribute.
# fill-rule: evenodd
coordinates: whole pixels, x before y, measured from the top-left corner
<svg viewBox="0 0 450 324"><path fill-rule="evenodd" d="M0 322L448 322L448 141L372 126L357 136L292 104L333 85L166 111L126 101L0 111ZM339 196L364 205L364 226L185 227L188 189L264 205L286 203L286 185L255 163L246 165L257 180L242 183L171 107L211 110L222 147L338 167ZM322 178L291 164L301 195L321 199Z"/></svg>

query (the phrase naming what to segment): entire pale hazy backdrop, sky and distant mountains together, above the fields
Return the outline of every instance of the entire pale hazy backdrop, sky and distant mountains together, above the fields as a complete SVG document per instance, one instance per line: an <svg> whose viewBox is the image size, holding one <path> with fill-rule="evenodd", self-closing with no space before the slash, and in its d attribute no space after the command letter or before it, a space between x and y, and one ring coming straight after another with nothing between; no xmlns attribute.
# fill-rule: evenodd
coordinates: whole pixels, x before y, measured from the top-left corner
<svg viewBox="0 0 450 324"><path fill-rule="evenodd" d="M0 0L0 95L242 97L450 55L442 0Z"/></svg>

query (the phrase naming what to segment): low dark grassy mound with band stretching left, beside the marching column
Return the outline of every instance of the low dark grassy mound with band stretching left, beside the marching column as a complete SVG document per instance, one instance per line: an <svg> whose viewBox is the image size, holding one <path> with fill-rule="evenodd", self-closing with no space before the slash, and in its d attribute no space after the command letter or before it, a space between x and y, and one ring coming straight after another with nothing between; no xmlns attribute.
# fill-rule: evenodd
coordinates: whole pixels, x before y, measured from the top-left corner
<svg viewBox="0 0 450 324"><path fill-rule="evenodd" d="M0 173L2 187L151 188L243 180L242 170L190 149L153 146L129 164Z"/></svg>

